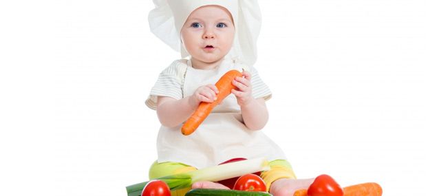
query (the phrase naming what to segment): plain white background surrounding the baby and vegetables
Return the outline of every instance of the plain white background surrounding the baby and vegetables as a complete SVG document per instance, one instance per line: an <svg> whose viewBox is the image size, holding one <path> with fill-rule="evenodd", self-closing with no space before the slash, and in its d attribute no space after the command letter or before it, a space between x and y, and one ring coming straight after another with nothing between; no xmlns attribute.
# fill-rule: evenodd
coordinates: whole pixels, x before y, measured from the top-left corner
<svg viewBox="0 0 439 196"><path fill-rule="evenodd" d="M264 132L299 178L434 195L438 21L429 1L260 1ZM126 195L160 126L144 105L178 58L152 1L0 3L0 195ZM436 148L436 149L433 149Z"/></svg>

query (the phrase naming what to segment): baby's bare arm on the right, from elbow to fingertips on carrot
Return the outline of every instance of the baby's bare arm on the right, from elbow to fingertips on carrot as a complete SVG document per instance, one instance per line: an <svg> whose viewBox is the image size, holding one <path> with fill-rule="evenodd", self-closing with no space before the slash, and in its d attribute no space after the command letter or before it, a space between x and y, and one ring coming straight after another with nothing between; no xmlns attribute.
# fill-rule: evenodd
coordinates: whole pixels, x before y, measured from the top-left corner
<svg viewBox="0 0 439 196"><path fill-rule="evenodd" d="M241 106L242 118L244 124L250 130L259 130L265 127L268 121L268 109L265 105L264 98L253 98L252 86L250 83L250 73L244 71L244 78L237 77L233 80L233 85L238 90L233 89L239 106Z"/></svg>

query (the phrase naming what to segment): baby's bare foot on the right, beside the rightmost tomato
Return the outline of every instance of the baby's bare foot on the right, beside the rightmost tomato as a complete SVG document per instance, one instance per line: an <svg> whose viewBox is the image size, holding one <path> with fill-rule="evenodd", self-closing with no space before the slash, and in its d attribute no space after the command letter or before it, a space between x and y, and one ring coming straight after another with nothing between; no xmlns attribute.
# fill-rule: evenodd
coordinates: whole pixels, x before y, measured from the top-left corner
<svg viewBox="0 0 439 196"><path fill-rule="evenodd" d="M274 196L290 196L295 194L296 190L302 188L308 188L312 182L313 178L310 179L277 179L270 186L270 193Z"/></svg>

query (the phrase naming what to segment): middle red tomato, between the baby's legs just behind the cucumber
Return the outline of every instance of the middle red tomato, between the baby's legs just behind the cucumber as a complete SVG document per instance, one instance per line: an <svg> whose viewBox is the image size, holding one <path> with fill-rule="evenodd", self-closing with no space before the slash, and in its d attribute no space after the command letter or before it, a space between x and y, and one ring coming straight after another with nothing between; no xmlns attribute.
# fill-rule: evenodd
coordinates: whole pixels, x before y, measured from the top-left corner
<svg viewBox="0 0 439 196"><path fill-rule="evenodd" d="M233 190L267 191L267 186L259 175L249 173L238 178Z"/></svg>

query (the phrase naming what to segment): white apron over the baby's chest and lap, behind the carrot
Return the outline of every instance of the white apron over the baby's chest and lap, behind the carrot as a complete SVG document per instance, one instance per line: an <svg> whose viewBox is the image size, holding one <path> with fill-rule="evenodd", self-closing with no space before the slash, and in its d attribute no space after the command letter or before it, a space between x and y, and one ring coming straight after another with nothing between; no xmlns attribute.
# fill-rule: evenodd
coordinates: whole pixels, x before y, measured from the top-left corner
<svg viewBox="0 0 439 196"><path fill-rule="evenodd" d="M188 61L182 86L183 96L191 96L202 85L215 84L231 69L241 65L224 60L216 69L193 69ZM244 125L236 97L231 94L217 105L191 135L182 135L177 127L160 127L157 140L158 162L180 162L195 168L214 166L235 157L286 159L261 130L250 131Z"/></svg>

